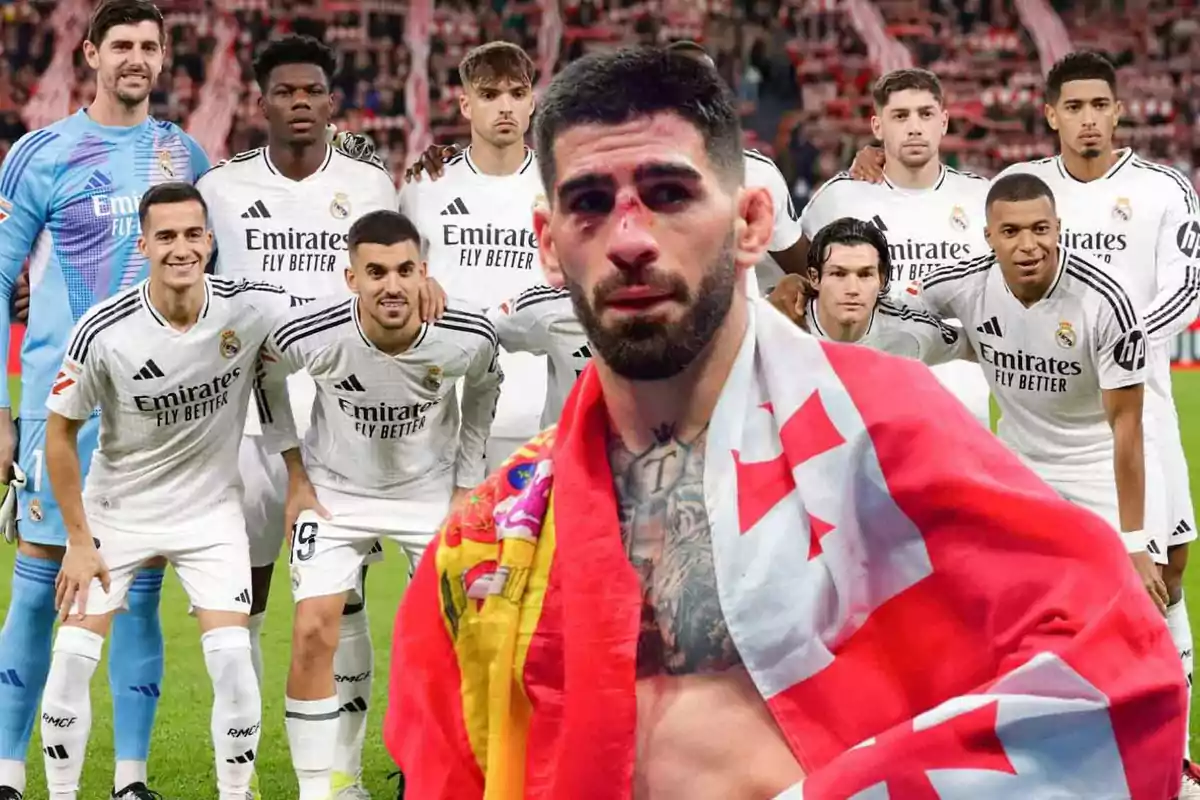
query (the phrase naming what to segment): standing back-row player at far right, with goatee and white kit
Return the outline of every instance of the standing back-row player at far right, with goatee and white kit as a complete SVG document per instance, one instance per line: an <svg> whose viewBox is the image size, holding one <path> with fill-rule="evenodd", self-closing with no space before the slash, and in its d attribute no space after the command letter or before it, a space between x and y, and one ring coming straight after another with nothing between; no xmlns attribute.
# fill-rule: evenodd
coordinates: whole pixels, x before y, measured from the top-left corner
<svg viewBox="0 0 1200 800"><path fill-rule="evenodd" d="M1169 533L1163 579L1170 594L1166 624L1184 672L1193 668L1192 626L1183 600L1188 545L1196 536L1188 464L1171 393L1170 350L1200 311L1200 200L1171 167L1116 149L1121 119L1116 71L1098 53L1072 53L1046 77L1045 118L1058 134L1054 158L1013 164L1058 200L1063 245L1115 278L1146 326L1145 435L1162 465ZM1183 798L1200 798L1200 771L1188 768Z"/></svg>

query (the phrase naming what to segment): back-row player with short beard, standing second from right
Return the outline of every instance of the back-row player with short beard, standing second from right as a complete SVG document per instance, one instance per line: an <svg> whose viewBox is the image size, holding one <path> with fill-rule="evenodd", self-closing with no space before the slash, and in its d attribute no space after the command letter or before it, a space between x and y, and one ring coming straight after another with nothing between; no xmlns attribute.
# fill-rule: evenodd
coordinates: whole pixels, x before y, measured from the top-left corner
<svg viewBox="0 0 1200 800"><path fill-rule="evenodd" d="M896 70L876 82L872 96L871 132L887 152L884 180L869 184L841 173L826 181L800 217L805 251L817 230L852 216L887 234L893 285L986 254L988 181L947 167L940 156L949 121L941 80L928 70ZM988 381L977 365L955 361L934 374L989 425Z"/></svg>

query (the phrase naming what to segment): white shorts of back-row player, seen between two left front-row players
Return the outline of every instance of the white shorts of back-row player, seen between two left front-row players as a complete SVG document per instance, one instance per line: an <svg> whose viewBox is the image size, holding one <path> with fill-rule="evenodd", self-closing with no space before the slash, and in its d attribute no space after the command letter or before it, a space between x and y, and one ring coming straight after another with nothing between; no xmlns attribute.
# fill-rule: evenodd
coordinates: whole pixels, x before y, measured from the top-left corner
<svg viewBox="0 0 1200 800"><path fill-rule="evenodd" d="M238 450L238 468L244 486L242 512L250 537L250 565L254 569L271 566L280 559L287 531L283 524L283 504L288 493L288 468L283 457L268 452L262 437L242 437ZM383 560L376 551L366 564Z"/></svg>

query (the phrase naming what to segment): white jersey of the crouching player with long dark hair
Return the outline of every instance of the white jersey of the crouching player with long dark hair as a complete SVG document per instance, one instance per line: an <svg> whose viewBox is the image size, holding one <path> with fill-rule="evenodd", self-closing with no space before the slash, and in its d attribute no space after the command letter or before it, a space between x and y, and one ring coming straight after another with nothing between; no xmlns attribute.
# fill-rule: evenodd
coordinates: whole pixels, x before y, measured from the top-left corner
<svg viewBox="0 0 1200 800"><path fill-rule="evenodd" d="M829 338L821 327L815 300L809 301L808 319L814 336ZM919 308L898 305L888 297L880 297L866 332L856 344L916 359L928 366L956 359L974 361L971 343L956 325L943 323Z"/></svg>

